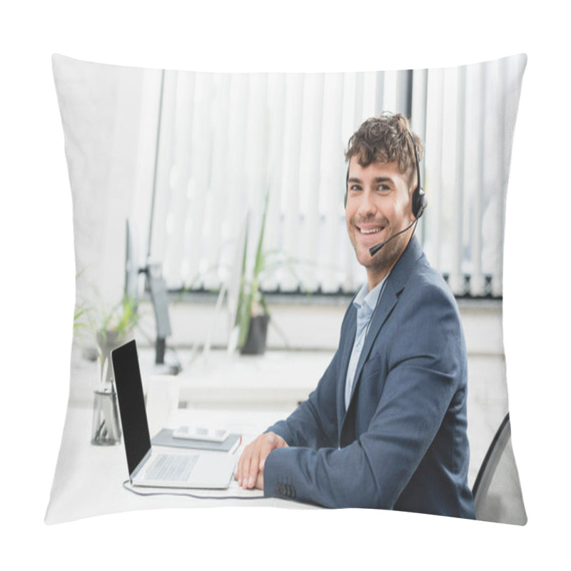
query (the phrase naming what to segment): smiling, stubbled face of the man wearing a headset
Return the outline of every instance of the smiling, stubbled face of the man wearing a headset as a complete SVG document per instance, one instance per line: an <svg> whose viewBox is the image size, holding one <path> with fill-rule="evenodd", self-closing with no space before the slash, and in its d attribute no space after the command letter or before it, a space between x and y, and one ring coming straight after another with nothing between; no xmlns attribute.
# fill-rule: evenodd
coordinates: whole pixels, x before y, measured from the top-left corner
<svg viewBox="0 0 571 571"><path fill-rule="evenodd" d="M371 163L363 167L358 157L349 163L345 220L360 264L367 268L369 288L377 285L403 253L413 228L391 240L371 257L376 246L413 222L410 174L401 174L397 163Z"/></svg>

